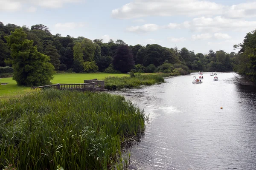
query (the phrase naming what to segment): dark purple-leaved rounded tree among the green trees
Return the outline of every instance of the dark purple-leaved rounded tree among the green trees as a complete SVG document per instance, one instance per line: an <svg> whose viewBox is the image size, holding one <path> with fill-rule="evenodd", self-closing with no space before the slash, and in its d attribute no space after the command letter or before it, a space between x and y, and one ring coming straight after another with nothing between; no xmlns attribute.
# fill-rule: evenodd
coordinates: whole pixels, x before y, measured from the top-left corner
<svg viewBox="0 0 256 170"><path fill-rule="evenodd" d="M127 73L134 67L134 58L131 48L128 45L120 45L117 48L116 55L113 59L113 67L122 73Z"/></svg>

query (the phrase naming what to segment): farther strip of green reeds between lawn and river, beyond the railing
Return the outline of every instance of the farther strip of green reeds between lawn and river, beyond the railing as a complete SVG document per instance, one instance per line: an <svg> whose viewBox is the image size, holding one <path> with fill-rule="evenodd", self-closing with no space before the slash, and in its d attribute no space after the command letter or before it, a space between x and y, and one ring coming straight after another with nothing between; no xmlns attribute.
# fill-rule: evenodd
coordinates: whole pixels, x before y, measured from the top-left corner
<svg viewBox="0 0 256 170"><path fill-rule="evenodd" d="M153 85L164 82L160 74L135 74L135 77L106 77L105 88L115 90L121 88L133 88L140 85Z"/></svg>

